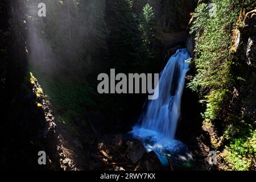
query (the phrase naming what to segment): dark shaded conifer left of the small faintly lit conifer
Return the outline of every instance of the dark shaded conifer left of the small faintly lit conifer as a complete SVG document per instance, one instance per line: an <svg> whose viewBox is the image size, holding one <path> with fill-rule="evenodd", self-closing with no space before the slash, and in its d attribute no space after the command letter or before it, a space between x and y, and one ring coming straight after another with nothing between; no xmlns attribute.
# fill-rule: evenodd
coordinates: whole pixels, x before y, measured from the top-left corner
<svg viewBox="0 0 256 182"><path fill-rule="evenodd" d="M133 1L108 1L107 24L110 67L129 72L137 59L140 44L137 16L132 11Z"/></svg>

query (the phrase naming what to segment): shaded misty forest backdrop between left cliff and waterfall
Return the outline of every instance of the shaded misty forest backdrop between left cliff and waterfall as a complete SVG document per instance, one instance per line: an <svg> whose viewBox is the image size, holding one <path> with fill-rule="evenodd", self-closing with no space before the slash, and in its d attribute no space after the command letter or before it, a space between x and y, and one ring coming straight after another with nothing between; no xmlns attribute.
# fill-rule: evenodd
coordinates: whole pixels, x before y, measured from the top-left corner
<svg viewBox="0 0 256 182"><path fill-rule="evenodd" d="M57 118L85 123L86 111L97 109L105 112L102 117L125 117L114 110L128 108L138 98L98 94L97 75L110 68L148 71L154 60L152 7L144 2L135 10L135 1L130 0L46 1L47 16L39 18L34 11L39 2L26 3L28 72L51 98ZM112 125L108 120L105 124Z"/></svg>

